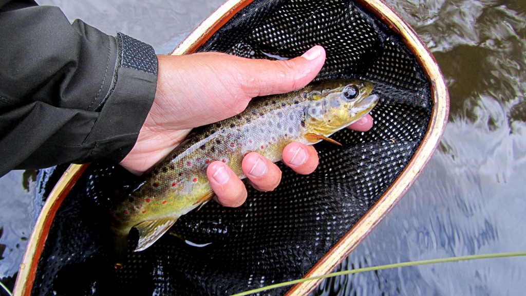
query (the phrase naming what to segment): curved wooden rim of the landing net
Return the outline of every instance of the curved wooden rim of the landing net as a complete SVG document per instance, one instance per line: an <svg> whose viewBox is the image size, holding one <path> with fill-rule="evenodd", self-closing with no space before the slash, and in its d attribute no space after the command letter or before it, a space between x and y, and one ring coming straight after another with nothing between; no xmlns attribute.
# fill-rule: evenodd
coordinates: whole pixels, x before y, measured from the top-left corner
<svg viewBox="0 0 526 296"><path fill-rule="evenodd" d="M219 28L225 25L232 16L252 3L252 1L228 0L194 29L171 54L182 55L195 52ZM422 43L413 29L385 2L381 0L356 0L356 2L395 31L422 67L431 85L430 93L433 101L431 120L422 143L400 176L352 229L305 274L305 278L326 274L335 269L387 215L414 183L433 152L437 149L448 120L449 94L447 86L436 60L434 60L426 45ZM38 261L41 258L55 214L87 166L88 164L69 166L49 194L29 239L16 279L14 295L31 295ZM320 281L315 280L296 284L287 292L287 295L306 295Z"/></svg>

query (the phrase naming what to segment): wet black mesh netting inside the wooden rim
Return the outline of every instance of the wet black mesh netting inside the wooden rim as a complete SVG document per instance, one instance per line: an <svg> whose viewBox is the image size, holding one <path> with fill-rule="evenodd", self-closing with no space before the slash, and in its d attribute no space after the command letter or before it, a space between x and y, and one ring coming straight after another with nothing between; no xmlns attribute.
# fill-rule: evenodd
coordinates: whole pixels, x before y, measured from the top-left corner
<svg viewBox="0 0 526 296"><path fill-rule="evenodd" d="M237 209L215 202L184 215L145 251L114 269L106 233L112 197L136 182L92 163L54 219L33 295L226 295L301 278L389 188L426 134L432 101L421 67L396 33L341 0L254 1L198 51L289 58L323 45L317 80L360 78L380 97L369 132L343 130L343 146L316 144L310 175L281 165L272 192L249 189ZM281 295L287 288L265 292Z"/></svg>

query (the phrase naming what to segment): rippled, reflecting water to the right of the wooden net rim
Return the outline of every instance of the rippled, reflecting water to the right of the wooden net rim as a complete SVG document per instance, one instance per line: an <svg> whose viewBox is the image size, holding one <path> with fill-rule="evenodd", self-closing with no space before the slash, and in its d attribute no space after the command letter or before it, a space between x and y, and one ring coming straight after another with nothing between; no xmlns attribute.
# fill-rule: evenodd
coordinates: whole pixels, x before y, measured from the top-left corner
<svg viewBox="0 0 526 296"><path fill-rule="evenodd" d="M338 270L526 250L526 2L395 1L449 84L440 149ZM521 295L526 259L382 270L324 282L316 295Z"/></svg>

